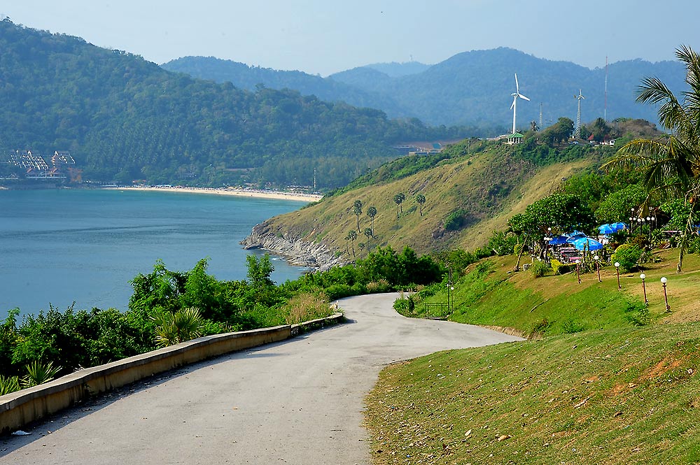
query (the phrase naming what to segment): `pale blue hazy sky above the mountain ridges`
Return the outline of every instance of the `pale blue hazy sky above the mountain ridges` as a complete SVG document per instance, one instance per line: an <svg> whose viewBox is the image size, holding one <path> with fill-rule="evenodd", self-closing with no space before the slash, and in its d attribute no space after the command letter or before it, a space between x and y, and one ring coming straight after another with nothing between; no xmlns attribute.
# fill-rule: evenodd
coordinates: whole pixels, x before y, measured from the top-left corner
<svg viewBox="0 0 700 465"><path fill-rule="evenodd" d="M595 68L700 49L698 0L3 0L15 24L158 64L188 55L328 74L500 46Z"/></svg>

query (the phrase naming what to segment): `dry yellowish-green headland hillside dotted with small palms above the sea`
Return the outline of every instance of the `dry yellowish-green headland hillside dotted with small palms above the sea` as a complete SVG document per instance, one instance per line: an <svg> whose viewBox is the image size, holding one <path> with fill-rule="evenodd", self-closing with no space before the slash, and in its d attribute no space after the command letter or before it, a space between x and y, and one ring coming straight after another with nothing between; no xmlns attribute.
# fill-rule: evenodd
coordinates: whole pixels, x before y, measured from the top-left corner
<svg viewBox="0 0 700 465"><path fill-rule="evenodd" d="M514 213L559 187L561 178L594 164L590 157L542 167L519 157L507 145L492 144L479 150L475 144L481 143L463 141L450 148L446 157L426 161L398 159L356 180L344 192L268 220L269 228L286 238L323 242L351 259L344 238L358 229L352 208L359 200L363 212L356 257L386 245L395 249L409 246L423 254L445 248L473 250L484 245L494 230L503 229ZM405 201L399 207L393 198L400 192ZM426 197L422 216L416 194ZM374 238L362 232L371 227L366 214L369 206L377 208ZM446 229L450 215L461 216L460 227Z"/></svg>

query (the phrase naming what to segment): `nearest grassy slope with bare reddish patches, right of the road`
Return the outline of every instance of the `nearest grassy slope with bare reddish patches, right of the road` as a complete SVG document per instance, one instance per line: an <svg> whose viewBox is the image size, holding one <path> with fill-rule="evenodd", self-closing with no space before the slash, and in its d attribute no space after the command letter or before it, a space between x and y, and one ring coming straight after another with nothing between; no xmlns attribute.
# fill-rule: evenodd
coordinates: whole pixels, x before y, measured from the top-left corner
<svg viewBox="0 0 700 465"><path fill-rule="evenodd" d="M367 398L374 464L700 463L700 324L440 352Z"/></svg>

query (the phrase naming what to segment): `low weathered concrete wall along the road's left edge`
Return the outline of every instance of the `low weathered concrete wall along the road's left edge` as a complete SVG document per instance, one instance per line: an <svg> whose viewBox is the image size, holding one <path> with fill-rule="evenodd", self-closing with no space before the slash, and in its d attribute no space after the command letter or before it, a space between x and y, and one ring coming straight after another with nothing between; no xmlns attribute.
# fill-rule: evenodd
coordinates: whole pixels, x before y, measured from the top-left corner
<svg viewBox="0 0 700 465"><path fill-rule="evenodd" d="M293 326L205 336L106 365L93 366L43 385L6 394L0 396L0 434L20 429L29 422L56 413L87 396L109 391L156 373L228 352L284 341L301 331L343 320L343 315L337 313L328 318Z"/></svg>

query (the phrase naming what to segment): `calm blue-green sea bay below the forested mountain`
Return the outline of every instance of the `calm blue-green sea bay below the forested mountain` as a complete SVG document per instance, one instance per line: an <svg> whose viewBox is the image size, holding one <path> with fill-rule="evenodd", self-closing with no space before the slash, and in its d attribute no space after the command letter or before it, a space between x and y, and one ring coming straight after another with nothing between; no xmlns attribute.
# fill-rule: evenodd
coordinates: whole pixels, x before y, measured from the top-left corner
<svg viewBox="0 0 700 465"><path fill-rule="evenodd" d="M153 271L189 271L209 259L219 280L246 278L239 244L255 224L302 201L130 189L0 190L0 320L8 310L126 310L132 280ZM272 280L307 269L272 257Z"/></svg>

